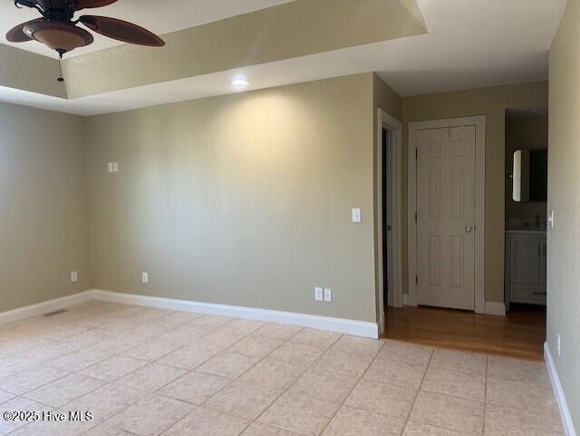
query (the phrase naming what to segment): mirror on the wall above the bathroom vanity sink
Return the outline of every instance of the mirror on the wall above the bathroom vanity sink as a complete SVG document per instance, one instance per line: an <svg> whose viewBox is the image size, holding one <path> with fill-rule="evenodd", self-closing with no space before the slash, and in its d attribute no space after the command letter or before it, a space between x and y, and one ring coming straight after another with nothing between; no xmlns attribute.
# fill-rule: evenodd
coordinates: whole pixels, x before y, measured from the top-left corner
<svg viewBox="0 0 580 436"><path fill-rule="evenodd" d="M547 200L547 150L516 150L512 198L518 203Z"/></svg>

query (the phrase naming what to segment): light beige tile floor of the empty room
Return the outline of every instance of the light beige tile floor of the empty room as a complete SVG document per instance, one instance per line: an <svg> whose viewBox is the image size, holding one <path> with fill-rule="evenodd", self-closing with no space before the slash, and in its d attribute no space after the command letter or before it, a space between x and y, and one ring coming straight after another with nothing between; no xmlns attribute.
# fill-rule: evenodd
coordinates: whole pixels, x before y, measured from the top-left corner
<svg viewBox="0 0 580 436"><path fill-rule="evenodd" d="M556 436L543 363L89 302L0 327L11 436Z"/></svg>

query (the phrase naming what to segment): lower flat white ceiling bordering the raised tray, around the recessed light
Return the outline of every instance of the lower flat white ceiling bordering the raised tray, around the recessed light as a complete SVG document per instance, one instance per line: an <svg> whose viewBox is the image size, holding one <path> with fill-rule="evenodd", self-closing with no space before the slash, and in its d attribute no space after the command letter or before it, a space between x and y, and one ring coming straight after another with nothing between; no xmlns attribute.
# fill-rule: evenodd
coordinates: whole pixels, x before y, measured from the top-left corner
<svg viewBox="0 0 580 436"><path fill-rule="evenodd" d="M132 0L120 0L120 3L123 1ZM548 49L566 2L417 0L429 34L72 101L1 88L0 100L90 115L227 94L232 92L229 80L238 75L247 77L250 89L261 89L374 71L402 96L546 80ZM196 3L223 7L226 3L268 2L208 0Z"/></svg>

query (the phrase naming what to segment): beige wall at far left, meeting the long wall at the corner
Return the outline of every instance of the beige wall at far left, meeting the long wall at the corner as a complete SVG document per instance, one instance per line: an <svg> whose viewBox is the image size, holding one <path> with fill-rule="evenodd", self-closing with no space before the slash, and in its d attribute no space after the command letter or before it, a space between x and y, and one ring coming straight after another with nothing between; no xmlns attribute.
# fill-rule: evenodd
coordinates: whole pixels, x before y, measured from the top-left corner
<svg viewBox="0 0 580 436"><path fill-rule="evenodd" d="M92 286L83 124L0 102L0 313Z"/></svg>

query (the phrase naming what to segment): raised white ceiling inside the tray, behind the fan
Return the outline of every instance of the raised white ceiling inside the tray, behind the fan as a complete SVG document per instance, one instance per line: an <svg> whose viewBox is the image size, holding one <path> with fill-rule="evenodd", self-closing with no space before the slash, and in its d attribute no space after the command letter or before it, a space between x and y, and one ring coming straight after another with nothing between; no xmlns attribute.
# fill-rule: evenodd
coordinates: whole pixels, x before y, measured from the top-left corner
<svg viewBox="0 0 580 436"><path fill-rule="evenodd" d="M109 6L84 9L78 15L106 15L139 24L156 34L169 34L197 25L222 20L230 16L247 14L293 0L119 0ZM78 16L77 15L77 16ZM0 3L0 43L13 45L30 52L57 57L51 50L34 42L8 43L5 33L14 25L39 16L34 9L18 9L13 0ZM94 43L67 54L67 57L94 52L122 44L100 34L94 34Z"/></svg>

